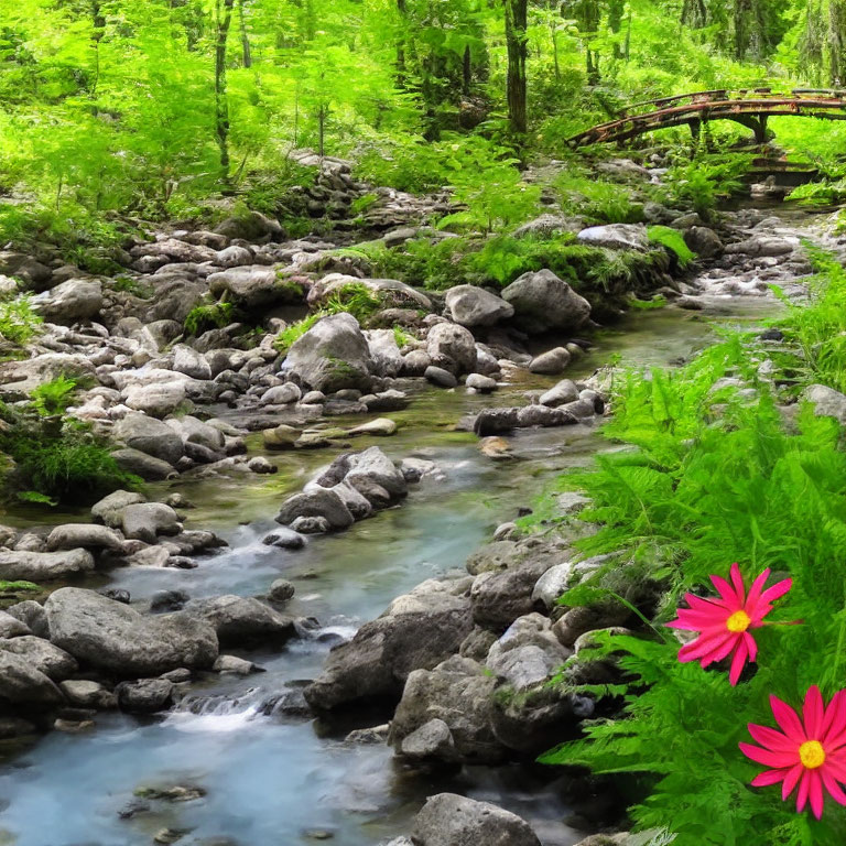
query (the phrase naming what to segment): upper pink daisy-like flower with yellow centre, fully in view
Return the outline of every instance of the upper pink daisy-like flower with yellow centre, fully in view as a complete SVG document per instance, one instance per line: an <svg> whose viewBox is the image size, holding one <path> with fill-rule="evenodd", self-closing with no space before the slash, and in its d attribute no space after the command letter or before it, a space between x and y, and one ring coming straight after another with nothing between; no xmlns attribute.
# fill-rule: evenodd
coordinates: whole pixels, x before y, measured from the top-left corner
<svg viewBox="0 0 846 846"><path fill-rule="evenodd" d="M694 594L685 594L688 608L679 609L679 618L666 625L671 629L698 631L699 637L687 643L679 651L682 662L699 661L703 668L722 661L728 655L731 659L731 671L728 680L737 684L747 661L755 661L758 644L749 633L764 625L763 618L772 610L772 604L790 590L793 582L785 578L772 587L763 589L770 571L764 570L755 579L746 594L740 567L731 565L731 584L725 578L712 576L711 581L719 593L719 598L703 598Z"/></svg>

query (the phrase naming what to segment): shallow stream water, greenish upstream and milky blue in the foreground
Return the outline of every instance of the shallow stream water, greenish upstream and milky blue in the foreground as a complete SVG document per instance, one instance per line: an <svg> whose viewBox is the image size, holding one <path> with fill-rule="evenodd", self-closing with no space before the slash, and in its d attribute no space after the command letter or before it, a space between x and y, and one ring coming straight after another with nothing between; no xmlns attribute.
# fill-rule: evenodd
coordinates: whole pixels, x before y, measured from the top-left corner
<svg viewBox="0 0 846 846"><path fill-rule="evenodd" d="M712 319L756 323L777 310L769 300L736 299L713 302L706 312L632 314L596 339L573 375L588 375L615 357L646 366L675 362L713 337ZM584 834L560 822L571 809L567 782L555 771L415 772L382 746L345 746L315 722L259 712L290 683L319 672L332 641L326 636L348 636L399 594L462 567L550 478L601 448L596 432L584 426L523 431L511 438L514 460L494 462L475 437L449 430L479 404L508 404L508 394L554 381L527 378L492 399L463 389L423 391L408 411L390 415L404 423L394 437L356 441L355 448L378 443L394 458L431 458L444 477L413 486L408 501L346 533L312 539L303 551L267 547L260 539L274 525L284 495L327 464L333 451L271 456L280 465L276 477L170 486L196 502L189 525L215 529L230 549L194 571L116 571L110 585L128 588L133 603L143 604L172 587L192 597L260 595L284 576L297 588L292 612L316 617L324 637L292 642L278 654L250 653L268 672L196 691L216 697L194 707L200 713L184 709L142 724L100 716L88 734L56 731L10 756L0 769L0 846L140 846L163 827L189 829L181 844L230 837L240 846L296 846L330 834L343 846L368 846L408 832L425 795L444 789L520 813L536 825L545 846L581 839ZM119 818L139 785L186 783L202 785L207 795L152 802L150 811Z"/></svg>

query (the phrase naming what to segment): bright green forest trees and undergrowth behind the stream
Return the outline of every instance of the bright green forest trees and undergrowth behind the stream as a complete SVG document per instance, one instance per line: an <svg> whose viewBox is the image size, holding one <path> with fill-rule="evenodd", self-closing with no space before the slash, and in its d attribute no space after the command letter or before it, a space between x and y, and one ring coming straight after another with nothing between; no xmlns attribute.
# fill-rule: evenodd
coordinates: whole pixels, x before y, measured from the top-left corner
<svg viewBox="0 0 846 846"><path fill-rule="evenodd" d="M17 0L0 239L108 240L220 192L284 213L295 148L421 191L466 138L561 155L627 99L838 86L844 22L846 0Z"/></svg>

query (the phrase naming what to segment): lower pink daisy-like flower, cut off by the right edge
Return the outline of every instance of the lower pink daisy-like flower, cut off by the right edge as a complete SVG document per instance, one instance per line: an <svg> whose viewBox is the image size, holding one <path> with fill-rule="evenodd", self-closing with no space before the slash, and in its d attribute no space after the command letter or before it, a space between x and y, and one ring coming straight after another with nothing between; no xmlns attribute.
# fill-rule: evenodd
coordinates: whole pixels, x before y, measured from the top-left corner
<svg viewBox="0 0 846 846"><path fill-rule="evenodd" d="M814 685L805 694L802 719L776 696L770 696L770 705L781 731L750 724L749 734L760 747L740 744L747 758L774 768L756 776L752 787L782 782L784 801L799 784L796 811L804 811L810 800L817 820L823 815L824 790L846 805L846 793L838 783L846 783L846 691L835 693L826 708Z"/></svg>

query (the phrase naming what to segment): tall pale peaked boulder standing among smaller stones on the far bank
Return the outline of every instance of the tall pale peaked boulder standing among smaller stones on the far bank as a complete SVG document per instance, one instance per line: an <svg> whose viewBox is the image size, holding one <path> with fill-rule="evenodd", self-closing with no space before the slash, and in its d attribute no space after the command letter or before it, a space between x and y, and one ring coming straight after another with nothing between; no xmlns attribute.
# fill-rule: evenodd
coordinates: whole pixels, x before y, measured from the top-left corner
<svg viewBox="0 0 846 846"><path fill-rule="evenodd" d="M315 391L368 388L372 359L358 321L346 312L318 321L291 346L283 370Z"/></svg>

